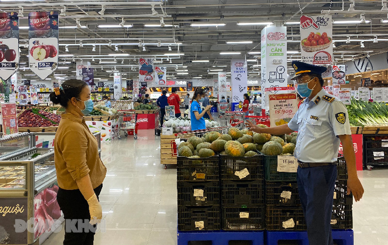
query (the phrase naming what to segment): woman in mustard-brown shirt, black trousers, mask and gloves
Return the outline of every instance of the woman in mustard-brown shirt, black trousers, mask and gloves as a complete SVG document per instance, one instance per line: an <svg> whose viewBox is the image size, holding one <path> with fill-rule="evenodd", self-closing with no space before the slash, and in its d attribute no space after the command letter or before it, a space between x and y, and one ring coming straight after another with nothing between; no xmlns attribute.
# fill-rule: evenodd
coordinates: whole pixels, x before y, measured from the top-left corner
<svg viewBox="0 0 388 245"><path fill-rule="evenodd" d="M54 146L57 201L65 217L63 244L93 245L96 224L102 219L98 195L107 170L99 158L97 140L83 119L93 110L90 89L81 80L66 80L50 93L50 100L65 107ZM83 229L85 223L90 223L89 229Z"/></svg>

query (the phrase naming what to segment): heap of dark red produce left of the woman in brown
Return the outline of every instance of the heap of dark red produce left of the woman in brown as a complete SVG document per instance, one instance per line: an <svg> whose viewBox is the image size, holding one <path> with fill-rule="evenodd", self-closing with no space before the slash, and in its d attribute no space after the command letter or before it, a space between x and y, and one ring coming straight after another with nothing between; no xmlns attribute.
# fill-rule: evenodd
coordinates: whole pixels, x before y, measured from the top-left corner
<svg viewBox="0 0 388 245"><path fill-rule="evenodd" d="M23 111L18 117L17 117L17 126L18 127L51 127L51 126L58 126L58 122L61 120L61 116L54 115L52 113L47 112L50 118L55 119L51 120L47 118L46 116L39 113L39 110L36 108L31 108L28 110Z"/></svg>

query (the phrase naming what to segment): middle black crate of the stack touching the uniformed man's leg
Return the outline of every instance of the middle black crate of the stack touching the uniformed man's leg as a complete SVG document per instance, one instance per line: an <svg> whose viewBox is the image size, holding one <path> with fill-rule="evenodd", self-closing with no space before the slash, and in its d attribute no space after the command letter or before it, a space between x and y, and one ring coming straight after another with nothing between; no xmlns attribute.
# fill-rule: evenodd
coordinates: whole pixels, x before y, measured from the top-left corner
<svg viewBox="0 0 388 245"><path fill-rule="evenodd" d="M300 206L296 182L266 182L265 202L275 206Z"/></svg>

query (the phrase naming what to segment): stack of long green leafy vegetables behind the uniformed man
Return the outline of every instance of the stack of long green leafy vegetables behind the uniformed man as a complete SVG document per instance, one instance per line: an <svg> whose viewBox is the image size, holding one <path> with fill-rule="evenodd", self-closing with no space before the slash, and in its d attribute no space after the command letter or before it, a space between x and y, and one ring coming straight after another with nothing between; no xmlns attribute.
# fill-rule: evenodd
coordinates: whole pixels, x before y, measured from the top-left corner
<svg viewBox="0 0 388 245"><path fill-rule="evenodd" d="M352 99L347 106L351 126L388 123L388 106L386 103L366 102Z"/></svg>

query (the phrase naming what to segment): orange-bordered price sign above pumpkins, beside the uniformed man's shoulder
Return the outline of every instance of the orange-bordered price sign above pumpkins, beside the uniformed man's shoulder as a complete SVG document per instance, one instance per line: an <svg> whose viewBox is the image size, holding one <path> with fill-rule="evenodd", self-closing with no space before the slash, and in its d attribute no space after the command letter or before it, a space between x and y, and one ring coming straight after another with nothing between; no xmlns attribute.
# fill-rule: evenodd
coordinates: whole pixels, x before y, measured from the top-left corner
<svg viewBox="0 0 388 245"><path fill-rule="evenodd" d="M270 94L268 104L271 127L289 123L298 110L296 93Z"/></svg>

